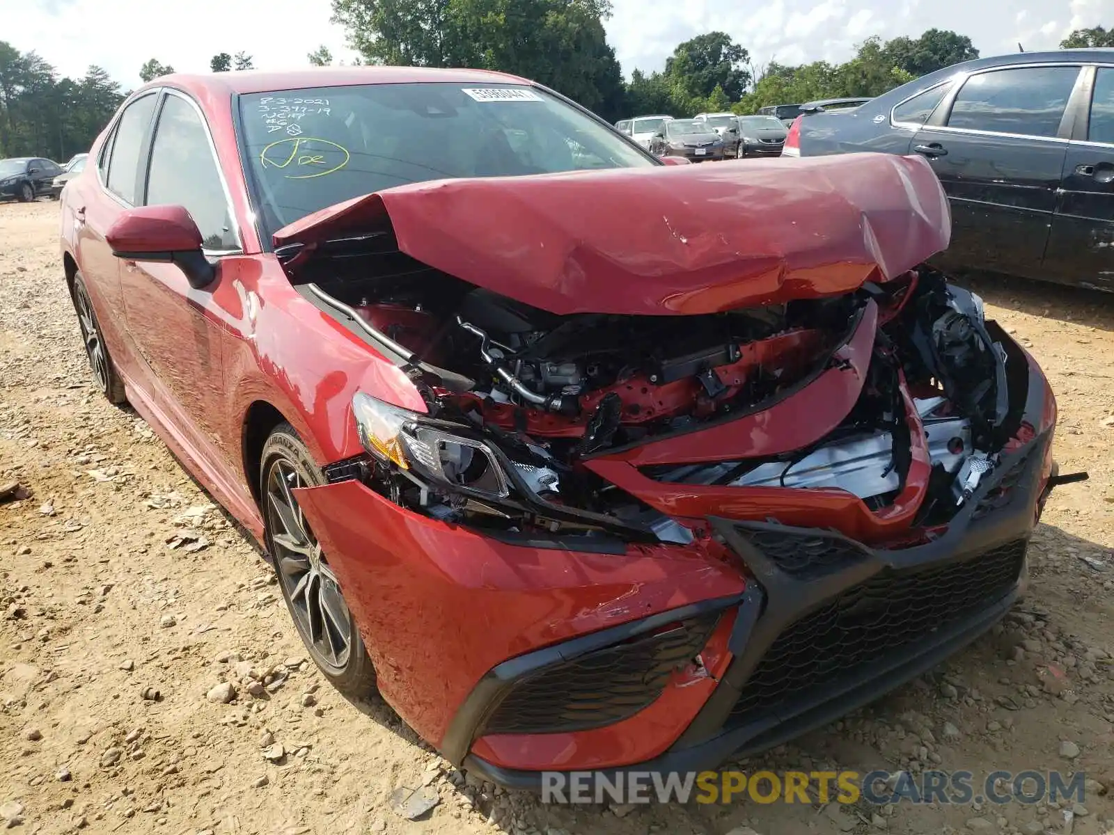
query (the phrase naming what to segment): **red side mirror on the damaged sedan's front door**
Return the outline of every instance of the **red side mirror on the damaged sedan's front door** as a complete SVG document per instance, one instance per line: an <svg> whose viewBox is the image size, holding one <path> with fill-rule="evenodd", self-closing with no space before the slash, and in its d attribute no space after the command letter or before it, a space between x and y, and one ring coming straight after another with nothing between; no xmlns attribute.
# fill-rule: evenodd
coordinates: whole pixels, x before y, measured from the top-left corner
<svg viewBox="0 0 1114 835"><path fill-rule="evenodd" d="M117 258L177 264L195 289L216 278L216 267L202 252L202 233L183 206L126 209L105 238Z"/></svg>

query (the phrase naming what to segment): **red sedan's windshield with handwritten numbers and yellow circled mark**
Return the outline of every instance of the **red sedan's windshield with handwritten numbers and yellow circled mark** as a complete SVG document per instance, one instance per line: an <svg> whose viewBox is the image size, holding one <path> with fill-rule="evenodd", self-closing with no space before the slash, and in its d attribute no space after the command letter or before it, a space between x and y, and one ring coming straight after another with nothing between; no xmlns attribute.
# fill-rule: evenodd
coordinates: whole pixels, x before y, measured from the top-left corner
<svg viewBox="0 0 1114 835"><path fill-rule="evenodd" d="M240 145L268 234L335 203L455 177L657 163L532 87L394 84L240 97Z"/></svg>

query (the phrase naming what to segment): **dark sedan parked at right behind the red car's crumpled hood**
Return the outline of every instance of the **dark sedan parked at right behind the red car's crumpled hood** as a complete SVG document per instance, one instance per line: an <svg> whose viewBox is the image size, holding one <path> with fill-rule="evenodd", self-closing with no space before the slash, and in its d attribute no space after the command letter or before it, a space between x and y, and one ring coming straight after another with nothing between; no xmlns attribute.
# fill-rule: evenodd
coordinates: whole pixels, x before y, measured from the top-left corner
<svg viewBox="0 0 1114 835"><path fill-rule="evenodd" d="M846 112L804 114L786 156L920 154L951 204L946 268L1114 291L1114 49L938 70Z"/></svg>

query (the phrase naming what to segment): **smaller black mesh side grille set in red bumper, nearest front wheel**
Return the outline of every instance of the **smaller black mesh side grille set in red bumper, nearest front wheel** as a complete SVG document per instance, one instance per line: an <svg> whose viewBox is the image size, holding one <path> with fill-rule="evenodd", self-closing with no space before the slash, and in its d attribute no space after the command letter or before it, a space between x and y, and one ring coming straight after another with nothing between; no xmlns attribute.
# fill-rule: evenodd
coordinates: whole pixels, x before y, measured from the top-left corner
<svg viewBox="0 0 1114 835"><path fill-rule="evenodd" d="M700 654L717 619L713 613L684 620L524 678L482 733L555 734L629 718L662 694L673 670Z"/></svg>

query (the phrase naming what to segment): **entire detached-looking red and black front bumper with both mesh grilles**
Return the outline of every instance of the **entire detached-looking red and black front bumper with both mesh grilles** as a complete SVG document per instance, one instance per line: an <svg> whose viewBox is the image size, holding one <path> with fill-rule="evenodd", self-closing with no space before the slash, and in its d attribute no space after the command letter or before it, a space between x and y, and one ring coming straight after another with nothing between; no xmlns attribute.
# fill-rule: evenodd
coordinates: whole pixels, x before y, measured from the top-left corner
<svg viewBox="0 0 1114 835"><path fill-rule="evenodd" d="M296 494L384 698L451 762L522 788L546 770L701 770L878 698L1022 592L1055 401L1010 353L1026 440L946 532L912 548L709 518L740 571L698 541L500 541L355 480Z"/></svg>

